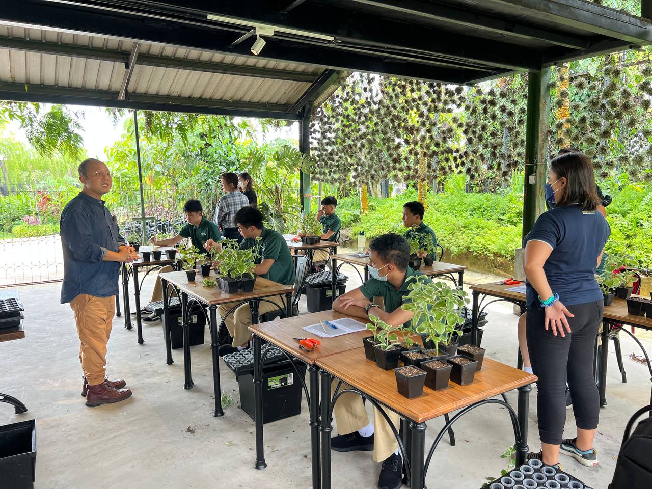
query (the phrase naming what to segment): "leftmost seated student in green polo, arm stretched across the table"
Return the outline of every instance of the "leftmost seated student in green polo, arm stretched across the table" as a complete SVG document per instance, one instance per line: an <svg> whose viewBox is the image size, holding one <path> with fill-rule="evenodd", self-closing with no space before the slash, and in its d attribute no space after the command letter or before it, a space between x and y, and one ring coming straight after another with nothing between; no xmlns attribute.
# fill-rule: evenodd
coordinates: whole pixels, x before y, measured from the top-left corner
<svg viewBox="0 0 652 489"><path fill-rule="evenodd" d="M190 199L187 200L183 205L183 214L188 221L179 233L175 237L168 239L156 239L156 236L149 240L151 244L155 246L174 246L175 244L181 243L185 238L190 238L190 242L193 246L200 250L200 253L207 253L209 249L213 246L218 246L217 250L220 250L220 229L217 227L215 222L204 218L203 208L201 207L201 202L198 200ZM166 265L161 267L158 273L172 272L174 269L171 265ZM156 280L154 285L154 291L152 292L152 297L150 302L162 301L163 299L163 287L161 281ZM147 318L143 318L145 323L153 323L155 321L160 321L160 318L154 314L153 311L149 310L148 306L143 307L141 312L149 313Z"/></svg>

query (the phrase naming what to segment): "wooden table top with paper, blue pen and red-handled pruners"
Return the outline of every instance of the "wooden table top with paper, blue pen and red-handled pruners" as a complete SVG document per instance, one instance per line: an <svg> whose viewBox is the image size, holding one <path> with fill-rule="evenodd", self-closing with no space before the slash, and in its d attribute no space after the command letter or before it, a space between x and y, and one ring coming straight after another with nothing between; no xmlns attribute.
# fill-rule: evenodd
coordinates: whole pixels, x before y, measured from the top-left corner
<svg viewBox="0 0 652 489"><path fill-rule="evenodd" d="M341 314L340 312L335 312L331 309L322 312L314 312L312 314L301 314L301 316L294 316L293 318L274 319L274 321L269 321L268 323L252 324L249 327L249 330L263 338L263 340L284 349L304 363L314 365L320 358L335 355L336 353L342 353L343 351L349 351L351 349L361 348L363 338L372 336L372 332L366 329L364 331L356 331L355 333L342 334L341 336L335 336L334 338L320 338L316 336L315 339L319 340L321 345L313 351L308 352L299 348L299 342L294 338L310 336L310 334L308 334L304 329L301 329L301 327L318 324L319 321L323 320L331 321L340 318L352 318L361 323L367 322L365 319L354 318L353 316ZM417 340L419 344L422 344L421 336L413 337L413 339Z"/></svg>

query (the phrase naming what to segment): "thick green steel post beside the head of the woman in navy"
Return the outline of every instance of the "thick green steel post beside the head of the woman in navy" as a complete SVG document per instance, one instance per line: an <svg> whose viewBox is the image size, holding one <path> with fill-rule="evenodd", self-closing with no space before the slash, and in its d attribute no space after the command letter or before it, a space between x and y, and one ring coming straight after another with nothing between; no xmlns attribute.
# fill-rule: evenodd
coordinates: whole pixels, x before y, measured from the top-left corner
<svg viewBox="0 0 652 489"><path fill-rule="evenodd" d="M543 212L548 162L550 68L530 72L527 82L526 161L523 185L523 237Z"/></svg>

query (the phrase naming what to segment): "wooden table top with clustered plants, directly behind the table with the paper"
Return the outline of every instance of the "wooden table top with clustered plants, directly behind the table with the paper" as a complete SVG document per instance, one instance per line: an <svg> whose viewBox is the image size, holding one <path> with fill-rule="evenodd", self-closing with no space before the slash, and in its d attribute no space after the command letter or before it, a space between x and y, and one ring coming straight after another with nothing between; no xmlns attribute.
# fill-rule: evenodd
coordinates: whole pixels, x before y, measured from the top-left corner
<svg viewBox="0 0 652 489"><path fill-rule="evenodd" d="M179 287L181 291L188 295L192 295L192 297L199 299L202 303L208 304L209 306L244 302L252 299L262 299L263 297L270 297L272 295L283 295L294 292L294 288L291 286L277 284L276 282L272 282L271 280L262 277L256 278L256 284L254 284L254 290L252 292L238 291L237 293L230 294L224 292L218 287L204 287L202 285L204 277L200 274L197 274L195 282L188 282L188 276L186 276L185 271L166 272L159 276ZM213 273L209 278L215 280L217 277L215 276L215 273Z"/></svg>

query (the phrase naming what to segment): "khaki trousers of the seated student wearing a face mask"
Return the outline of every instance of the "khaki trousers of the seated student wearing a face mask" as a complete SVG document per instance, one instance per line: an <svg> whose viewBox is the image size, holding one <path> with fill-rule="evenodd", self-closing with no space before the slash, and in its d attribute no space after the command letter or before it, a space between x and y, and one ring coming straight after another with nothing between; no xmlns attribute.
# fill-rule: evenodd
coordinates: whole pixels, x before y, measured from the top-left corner
<svg viewBox="0 0 652 489"><path fill-rule="evenodd" d="M338 382L331 383L331 396L335 393ZM349 389L351 386L342 382L342 389ZM383 409L394 424L396 431L399 429L400 416L394 411ZM338 398L333 407L333 416L337 424L337 432L340 435L348 435L354 431L364 428L369 424L369 416L364 409L363 398L358 394L346 393ZM398 449L398 441L394 437L392 428L387 424L383 415L374 408L374 460L383 462L387 457Z"/></svg>

